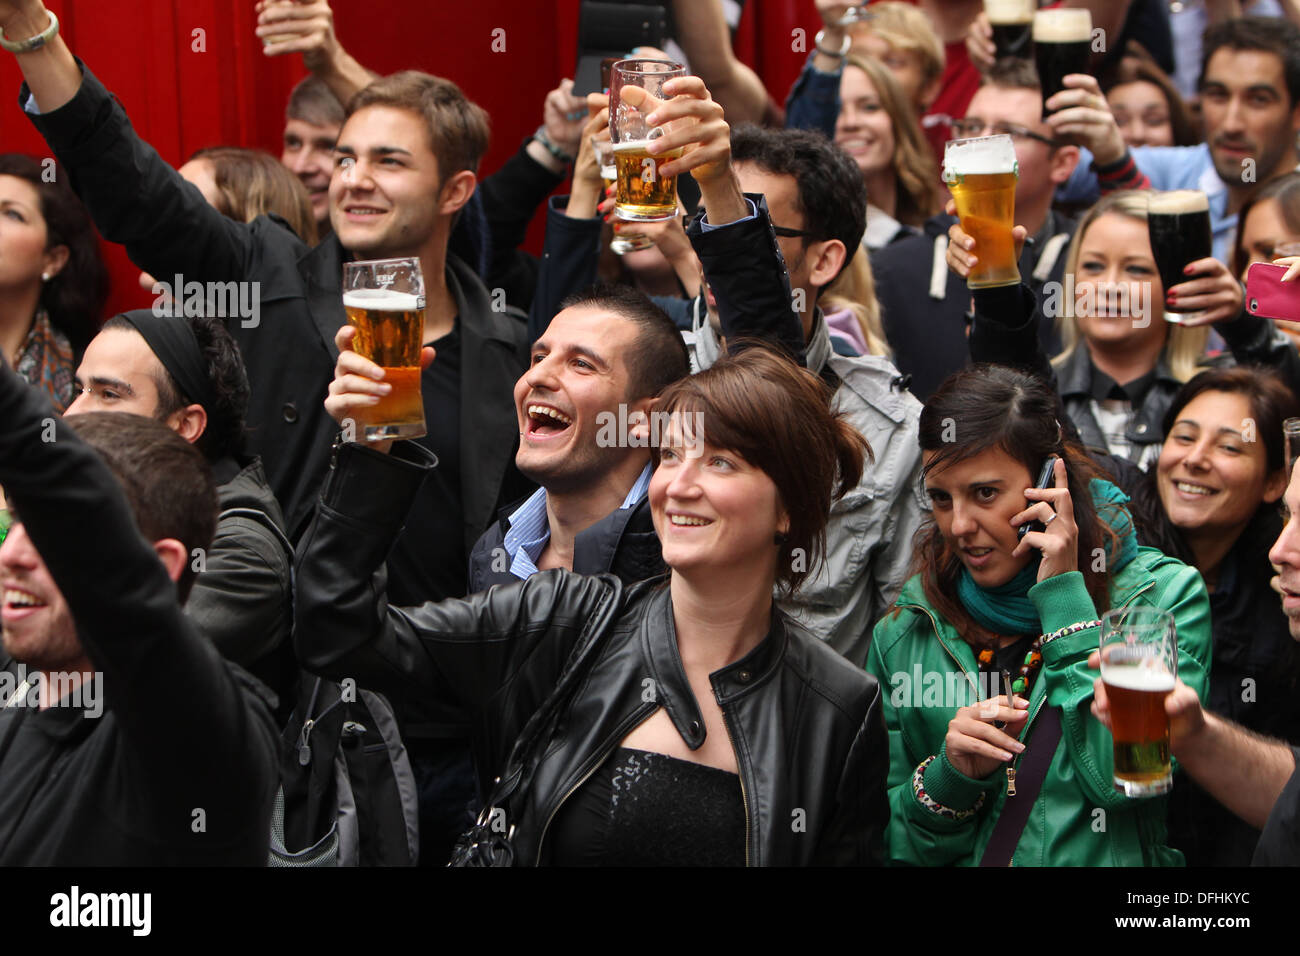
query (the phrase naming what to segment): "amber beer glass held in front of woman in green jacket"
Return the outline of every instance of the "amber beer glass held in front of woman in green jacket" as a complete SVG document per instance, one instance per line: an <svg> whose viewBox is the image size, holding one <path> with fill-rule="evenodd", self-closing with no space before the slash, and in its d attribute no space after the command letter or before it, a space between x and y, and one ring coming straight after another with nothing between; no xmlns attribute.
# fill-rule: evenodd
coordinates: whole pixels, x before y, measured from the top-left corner
<svg viewBox="0 0 1300 956"><path fill-rule="evenodd" d="M1174 615L1158 607L1121 607L1101 617L1114 783L1126 796L1165 793L1173 784L1165 698L1176 678Z"/></svg>

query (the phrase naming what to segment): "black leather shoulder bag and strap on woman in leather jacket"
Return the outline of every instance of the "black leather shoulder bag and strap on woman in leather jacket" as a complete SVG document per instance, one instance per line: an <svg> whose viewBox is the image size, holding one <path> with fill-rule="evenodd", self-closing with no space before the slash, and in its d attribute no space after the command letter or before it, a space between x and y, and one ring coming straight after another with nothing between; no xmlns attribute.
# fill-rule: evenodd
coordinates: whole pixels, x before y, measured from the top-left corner
<svg viewBox="0 0 1300 956"><path fill-rule="evenodd" d="M606 628L601 628L602 631ZM493 791L484 804L474 825L456 840L447 866L514 866L515 825L510 804L516 793L526 790L533 769L542 758L547 741L560 714L573 698L577 685L592 669L602 644L602 635L592 636L569 654L564 670L551 696L528 718L524 730L511 748L506 771L493 783Z"/></svg>

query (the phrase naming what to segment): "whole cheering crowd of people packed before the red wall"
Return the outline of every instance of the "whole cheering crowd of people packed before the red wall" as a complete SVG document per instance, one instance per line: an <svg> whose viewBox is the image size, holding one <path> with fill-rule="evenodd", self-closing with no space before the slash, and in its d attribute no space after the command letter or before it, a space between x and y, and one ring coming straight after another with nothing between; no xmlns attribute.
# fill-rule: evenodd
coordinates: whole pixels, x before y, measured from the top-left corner
<svg viewBox="0 0 1300 956"><path fill-rule="evenodd" d="M454 78L266 0L282 155L173 169L0 0L61 170L0 155L0 861L1300 862L1300 284L1244 286L1300 263L1295 5L1045 5L1104 40L1046 98L983 0L816 0L783 105L670 0L636 55L686 69L619 109L692 187L628 222L608 90L484 170ZM1020 281L968 287L985 135ZM1169 287L1166 190L1212 229ZM344 310L390 259L408 438ZM1167 793L1115 784L1119 609L1176 628Z"/></svg>

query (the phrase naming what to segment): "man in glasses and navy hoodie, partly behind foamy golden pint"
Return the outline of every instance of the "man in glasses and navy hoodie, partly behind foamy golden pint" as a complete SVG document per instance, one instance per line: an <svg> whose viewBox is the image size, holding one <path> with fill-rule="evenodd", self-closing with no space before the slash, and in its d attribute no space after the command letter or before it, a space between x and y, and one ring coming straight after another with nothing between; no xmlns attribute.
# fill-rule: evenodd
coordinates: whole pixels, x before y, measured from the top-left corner
<svg viewBox="0 0 1300 956"><path fill-rule="evenodd" d="M1053 138L1043 122L1043 92L1032 64L1005 60L984 77L957 137L1008 133L1015 147L1015 221L1030 239L1020 254L1020 280L1039 303L1065 273L1066 246L1074 222L1052 209L1056 189L1074 172L1079 150ZM945 264L948 229L954 216L926 221L922 235L901 239L871 256L876 298L885 338L900 371L911 376L911 390L926 401L949 375L968 364L966 334L971 306L966 281ZM1040 310L1039 336L1049 355L1060 351L1054 323Z"/></svg>

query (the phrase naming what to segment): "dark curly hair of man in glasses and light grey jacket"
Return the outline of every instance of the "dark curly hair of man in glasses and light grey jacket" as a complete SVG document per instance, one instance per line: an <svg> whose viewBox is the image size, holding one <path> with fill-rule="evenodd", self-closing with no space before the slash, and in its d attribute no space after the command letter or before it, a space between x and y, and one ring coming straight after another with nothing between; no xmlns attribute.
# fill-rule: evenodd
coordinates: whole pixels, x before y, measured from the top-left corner
<svg viewBox="0 0 1300 956"><path fill-rule="evenodd" d="M812 233L802 237L803 247L838 239L846 252L840 271L849 265L867 230L867 190L862 172L844 150L823 133L745 124L732 130L732 161L753 163L776 176L793 176L803 229Z"/></svg>

